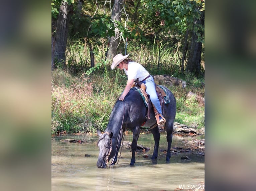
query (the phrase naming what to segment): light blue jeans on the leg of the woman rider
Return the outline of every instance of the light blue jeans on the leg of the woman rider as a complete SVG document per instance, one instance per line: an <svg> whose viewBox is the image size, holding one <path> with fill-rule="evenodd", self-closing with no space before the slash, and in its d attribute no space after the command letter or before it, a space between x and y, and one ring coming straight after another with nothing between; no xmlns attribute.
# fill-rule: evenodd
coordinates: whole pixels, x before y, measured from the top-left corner
<svg viewBox="0 0 256 191"><path fill-rule="evenodd" d="M161 110L161 105L160 105L160 101L158 96L156 95L156 90L155 90L155 81L153 79L152 76L150 76L149 78L147 78L145 81L142 81L147 89L146 92L147 94L150 95L150 99L152 101L152 103L154 104L156 110L158 111L159 114L162 114L162 110Z"/></svg>

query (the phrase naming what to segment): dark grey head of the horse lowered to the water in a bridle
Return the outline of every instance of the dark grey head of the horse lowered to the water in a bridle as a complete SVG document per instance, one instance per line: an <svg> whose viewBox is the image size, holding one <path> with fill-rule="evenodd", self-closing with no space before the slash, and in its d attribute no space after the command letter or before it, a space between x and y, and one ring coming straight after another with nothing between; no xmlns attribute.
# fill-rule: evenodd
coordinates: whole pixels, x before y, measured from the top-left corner
<svg viewBox="0 0 256 191"><path fill-rule="evenodd" d="M97 130L98 135L100 136L97 145L100 148L100 154L97 161L97 166L99 168L106 168L108 160L111 158L111 151L112 151L112 136L113 133L105 132L101 134L99 130Z"/></svg>

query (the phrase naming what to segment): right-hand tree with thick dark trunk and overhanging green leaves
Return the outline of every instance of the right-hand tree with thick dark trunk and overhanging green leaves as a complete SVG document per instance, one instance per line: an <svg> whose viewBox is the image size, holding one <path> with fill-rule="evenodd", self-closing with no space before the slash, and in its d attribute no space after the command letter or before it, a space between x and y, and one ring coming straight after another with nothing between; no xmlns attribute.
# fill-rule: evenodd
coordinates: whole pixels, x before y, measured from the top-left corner
<svg viewBox="0 0 256 191"><path fill-rule="evenodd" d="M159 41L169 40L168 34L182 42L181 73L187 57L186 70L199 75L204 41L204 0L142 0L142 3L148 12L144 19L150 20L145 26L155 30Z"/></svg>

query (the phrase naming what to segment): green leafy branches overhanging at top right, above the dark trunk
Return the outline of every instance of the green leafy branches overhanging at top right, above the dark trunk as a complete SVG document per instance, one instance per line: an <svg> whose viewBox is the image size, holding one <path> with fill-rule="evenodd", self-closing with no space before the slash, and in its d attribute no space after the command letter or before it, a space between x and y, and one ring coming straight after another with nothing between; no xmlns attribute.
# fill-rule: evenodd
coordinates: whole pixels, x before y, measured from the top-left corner
<svg viewBox="0 0 256 191"><path fill-rule="evenodd" d="M154 28L160 40L166 40L166 34L183 36L187 28L196 33L204 31L195 20L202 14L199 11L201 4L189 0L142 0L146 13L142 13L142 25ZM150 20L150 22L148 22ZM182 37L181 37L182 38ZM200 39L203 42L203 39Z"/></svg>

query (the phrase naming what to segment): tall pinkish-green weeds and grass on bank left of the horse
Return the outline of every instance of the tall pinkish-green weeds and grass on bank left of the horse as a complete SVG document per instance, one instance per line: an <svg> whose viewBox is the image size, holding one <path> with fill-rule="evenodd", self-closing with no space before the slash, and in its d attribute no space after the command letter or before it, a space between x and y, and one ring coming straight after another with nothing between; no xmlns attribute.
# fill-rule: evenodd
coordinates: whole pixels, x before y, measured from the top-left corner
<svg viewBox="0 0 256 191"><path fill-rule="evenodd" d="M117 80L120 72L115 73L117 79L110 75L103 60L100 67L76 76L66 70L53 71L52 133L105 130L112 106L123 89Z"/></svg>

